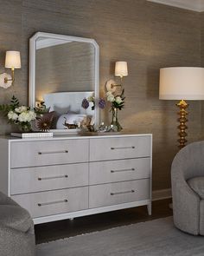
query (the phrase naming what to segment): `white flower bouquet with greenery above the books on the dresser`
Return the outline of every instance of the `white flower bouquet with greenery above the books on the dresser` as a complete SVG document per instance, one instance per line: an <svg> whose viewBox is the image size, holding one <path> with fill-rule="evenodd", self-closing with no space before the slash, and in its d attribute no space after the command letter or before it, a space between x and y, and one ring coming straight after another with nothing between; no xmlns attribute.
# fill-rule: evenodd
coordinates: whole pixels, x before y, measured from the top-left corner
<svg viewBox="0 0 204 256"><path fill-rule="evenodd" d="M29 132L31 130L31 121L36 119L34 110L29 107L20 106L18 99L13 96L10 104L0 105L0 111L3 111L9 119L9 123L16 124L21 131Z"/></svg>

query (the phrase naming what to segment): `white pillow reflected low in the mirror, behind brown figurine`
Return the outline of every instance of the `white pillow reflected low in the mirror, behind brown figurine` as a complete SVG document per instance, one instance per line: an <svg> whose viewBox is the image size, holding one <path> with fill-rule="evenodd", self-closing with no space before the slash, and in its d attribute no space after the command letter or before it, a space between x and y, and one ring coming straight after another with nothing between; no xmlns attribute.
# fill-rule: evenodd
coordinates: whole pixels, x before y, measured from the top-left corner
<svg viewBox="0 0 204 256"><path fill-rule="evenodd" d="M64 126L65 121L69 124L79 124L85 118L86 118L86 115L81 115L81 114L63 114L59 117L56 123L56 128L65 129L66 128Z"/></svg>

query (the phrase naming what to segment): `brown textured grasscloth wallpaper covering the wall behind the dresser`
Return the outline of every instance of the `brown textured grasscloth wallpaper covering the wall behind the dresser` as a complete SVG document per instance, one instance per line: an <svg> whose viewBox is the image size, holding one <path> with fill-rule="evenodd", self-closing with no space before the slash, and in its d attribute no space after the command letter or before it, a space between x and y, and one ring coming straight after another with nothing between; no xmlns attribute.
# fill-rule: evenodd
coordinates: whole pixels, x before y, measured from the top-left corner
<svg viewBox="0 0 204 256"><path fill-rule="evenodd" d="M94 38L100 48L100 90L113 78L114 62L124 60L125 108L119 113L124 130L153 134L153 189L170 187L170 164L176 148L174 101L158 100L159 69L200 66L201 18L199 13L145 0L0 0L0 71L4 51L22 52L22 69L16 84L0 89L0 103L16 95L28 103L29 37L36 31ZM203 28L204 30L204 28ZM204 34L204 33L202 33ZM203 36L202 36L203 37ZM203 136L201 102L190 102L188 140ZM110 120L109 111L101 113ZM1 117L0 133L10 132Z"/></svg>

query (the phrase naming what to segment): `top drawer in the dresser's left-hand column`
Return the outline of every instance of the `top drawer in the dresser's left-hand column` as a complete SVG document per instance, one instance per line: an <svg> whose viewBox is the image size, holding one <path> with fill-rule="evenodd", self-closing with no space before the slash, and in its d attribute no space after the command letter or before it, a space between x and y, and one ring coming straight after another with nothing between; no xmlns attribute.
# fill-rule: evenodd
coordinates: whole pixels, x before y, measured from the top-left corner
<svg viewBox="0 0 204 256"><path fill-rule="evenodd" d="M88 161L88 140L11 143L11 168Z"/></svg>

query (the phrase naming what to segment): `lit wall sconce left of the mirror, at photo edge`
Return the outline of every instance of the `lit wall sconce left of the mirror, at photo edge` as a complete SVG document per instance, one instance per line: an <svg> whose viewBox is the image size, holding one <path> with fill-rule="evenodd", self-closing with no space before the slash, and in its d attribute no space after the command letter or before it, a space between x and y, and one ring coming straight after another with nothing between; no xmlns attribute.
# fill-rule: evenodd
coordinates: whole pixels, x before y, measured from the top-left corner
<svg viewBox="0 0 204 256"><path fill-rule="evenodd" d="M21 69L20 51L8 50L5 57L5 68L11 69L11 75L3 73L0 75L0 87L9 88L15 81L14 70Z"/></svg>

